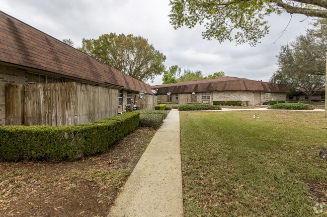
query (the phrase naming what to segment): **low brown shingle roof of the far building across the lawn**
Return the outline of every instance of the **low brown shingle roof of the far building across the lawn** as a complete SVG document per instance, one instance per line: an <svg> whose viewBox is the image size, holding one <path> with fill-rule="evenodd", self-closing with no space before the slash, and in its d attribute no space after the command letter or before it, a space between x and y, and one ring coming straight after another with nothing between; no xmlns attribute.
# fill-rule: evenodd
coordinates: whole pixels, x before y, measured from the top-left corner
<svg viewBox="0 0 327 217"><path fill-rule="evenodd" d="M173 84L162 84L151 87L158 89L157 94L171 93L192 93L192 92L207 92L207 91L264 91L264 92L280 92L290 93L286 85L273 84L262 81L254 81L245 78L236 77L220 77L210 78L197 81L185 81Z"/></svg>

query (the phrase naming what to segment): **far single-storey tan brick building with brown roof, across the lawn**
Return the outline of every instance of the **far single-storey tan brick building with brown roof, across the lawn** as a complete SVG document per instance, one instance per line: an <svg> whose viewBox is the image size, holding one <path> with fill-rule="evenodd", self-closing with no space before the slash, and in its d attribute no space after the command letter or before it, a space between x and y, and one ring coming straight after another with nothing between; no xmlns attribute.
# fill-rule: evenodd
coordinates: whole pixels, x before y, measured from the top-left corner
<svg viewBox="0 0 327 217"><path fill-rule="evenodd" d="M286 94L290 93L286 85L229 76L155 85L152 89L157 89L158 100L178 101L179 104L240 100L262 105L269 100L286 100Z"/></svg>

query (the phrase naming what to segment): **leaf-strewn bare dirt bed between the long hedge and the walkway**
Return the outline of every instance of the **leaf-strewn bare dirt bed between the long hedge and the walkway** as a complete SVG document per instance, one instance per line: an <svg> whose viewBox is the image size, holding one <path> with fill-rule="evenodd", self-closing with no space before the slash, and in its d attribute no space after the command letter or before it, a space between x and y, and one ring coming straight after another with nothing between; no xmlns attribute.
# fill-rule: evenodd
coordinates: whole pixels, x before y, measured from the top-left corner
<svg viewBox="0 0 327 217"><path fill-rule="evenodd" d="M75 161L0 159L0 216L106 216L155 131L139 127L105 153Z"/></svg>

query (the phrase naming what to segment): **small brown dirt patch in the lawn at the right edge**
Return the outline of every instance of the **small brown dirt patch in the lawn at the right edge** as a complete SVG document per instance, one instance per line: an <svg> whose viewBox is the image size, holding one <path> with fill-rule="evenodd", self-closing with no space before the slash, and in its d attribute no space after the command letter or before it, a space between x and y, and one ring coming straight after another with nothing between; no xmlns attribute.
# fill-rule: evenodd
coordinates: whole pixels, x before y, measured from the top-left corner
<svg viewBox="0 0 327 217"><path fill-rule="evenodd" d="M327 203L327 182L319 180L309 180L304 182L312 194L310 199L313 199L316 202Z"/></svg>

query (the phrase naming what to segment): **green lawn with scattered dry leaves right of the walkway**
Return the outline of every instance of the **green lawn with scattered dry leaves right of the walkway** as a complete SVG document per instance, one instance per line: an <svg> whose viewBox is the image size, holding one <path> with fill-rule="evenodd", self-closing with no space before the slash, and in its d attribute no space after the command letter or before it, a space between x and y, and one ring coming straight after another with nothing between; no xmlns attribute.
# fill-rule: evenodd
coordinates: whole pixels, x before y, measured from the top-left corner
<svg viewBox="0 0 327 217"><path fill-rule="evenodd" d="M186 216L326 216L327 161L317 153L327 147L323 112L180 117ZM314 213L313 199L323 212Z"/></svg>

